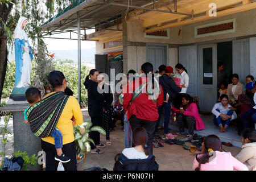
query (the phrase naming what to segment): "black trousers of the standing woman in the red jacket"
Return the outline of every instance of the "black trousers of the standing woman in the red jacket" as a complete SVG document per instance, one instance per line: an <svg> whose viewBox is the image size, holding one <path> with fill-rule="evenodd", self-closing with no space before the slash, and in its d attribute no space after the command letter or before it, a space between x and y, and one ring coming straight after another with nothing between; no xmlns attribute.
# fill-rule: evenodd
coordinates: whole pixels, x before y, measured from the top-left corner
<svg viewBox="0 0 256 182"><path fill-rule="evenodd" d="M147 121L144 119L139 119L135 115L132 115L129 121L131 125L131 130L134 130L136 127L143 127L147 131L147 146L148 148L150 148L151 154L153 154L153 138L156 121Z"/></svg>

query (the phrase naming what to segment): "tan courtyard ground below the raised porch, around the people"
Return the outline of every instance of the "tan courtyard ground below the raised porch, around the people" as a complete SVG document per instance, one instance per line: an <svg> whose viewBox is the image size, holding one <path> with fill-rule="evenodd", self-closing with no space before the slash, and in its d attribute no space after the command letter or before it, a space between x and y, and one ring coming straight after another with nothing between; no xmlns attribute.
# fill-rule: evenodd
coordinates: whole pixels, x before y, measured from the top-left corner
<svg viewBox="0 0 256 182"><path fill-rule="evenodd" d="M88 112L83 110L84 120L90 119ZM1 117L0 127L3 126L3 117ZM13 133L13 121L11 120L8 125L9 131ZM171 130L175 132L175 130ZM163 130L159 130L159 133L162 134ZM96 166L101 168L106 168L110 171L114 167L114 156L118 153L121 153L124 148L124 132L122 130L121 124L117 124L115 131L110 133L110 140L112 142L111 146L105 146L102 148L102 154L87 154L85 162L82 160L77 164L78 170L88 169L90 167ZM177 139L184 138L184 135L177 137ZM8 137L9 143L7 143L7 157L10 158L13 153L13 135ZM105 136L101 135L101 142L106 144ZM189 144L189 143L188 143ZM236 156L241 148L238 147L227 147L223 146L225 151L229 151L233 156ZM0 151L2 148L0 147ZM199 151L196 151L199 152ZM182 146L176 144L169 145L164 143L164 147L154 148L153 154L155 155L156 162L159 164L160 171L179 171L179 170L192 170L192 162L195 154L191 153L188 150L184 150Z"/></svg>

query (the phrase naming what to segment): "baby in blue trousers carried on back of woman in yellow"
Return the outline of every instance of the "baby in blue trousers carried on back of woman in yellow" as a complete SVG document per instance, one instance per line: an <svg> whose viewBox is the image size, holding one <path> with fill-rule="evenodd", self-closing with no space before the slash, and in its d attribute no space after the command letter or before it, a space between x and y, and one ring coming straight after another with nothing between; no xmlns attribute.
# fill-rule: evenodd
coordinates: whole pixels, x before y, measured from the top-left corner
<svg viewBox="0 0 256 182"><path fill-rule="evenodd" d="M30 104L30 107L32 105L35 105L36 103L41 101L41 94L40 91L37 88L28 88L25 92L26 97L27 97L27 102ZM25 123L29 123L28 122L28 116L27 116L27 110L30 108L27 107L26 110L24 110L24 120ZM72 118L73 120L73 124L75 123L75 118ZM55 160L60 161L61 163L67 163L70 161L70 159L63 154L62 152L62 146L63 146L63 140L62 140L62 134L60 133L60 130L56 129L53 131L52 136L55 139L55 148L57 151L57 155L55 156Z"/></svg>

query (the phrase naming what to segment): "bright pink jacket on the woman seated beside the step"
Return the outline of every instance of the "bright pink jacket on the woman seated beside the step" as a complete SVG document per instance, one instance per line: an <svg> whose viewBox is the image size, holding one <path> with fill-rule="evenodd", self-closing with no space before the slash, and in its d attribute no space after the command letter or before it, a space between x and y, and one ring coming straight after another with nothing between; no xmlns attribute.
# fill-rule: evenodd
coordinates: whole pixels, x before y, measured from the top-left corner
<svg viewBox="0 0 256 182"><path fill-rule="evenodd" d="M196 118L196 130L203 130L205 128L204 122L199 115L196 103L190 104L183 114L191 115L192 117Z"/></svg>

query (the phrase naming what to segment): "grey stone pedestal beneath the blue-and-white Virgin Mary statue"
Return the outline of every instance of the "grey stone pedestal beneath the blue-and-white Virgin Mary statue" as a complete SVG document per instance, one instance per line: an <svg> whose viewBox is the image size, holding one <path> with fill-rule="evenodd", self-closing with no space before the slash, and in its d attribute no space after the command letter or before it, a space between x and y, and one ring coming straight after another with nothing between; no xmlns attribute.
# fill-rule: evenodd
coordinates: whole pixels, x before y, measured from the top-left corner
<svg viewBox="0 0 256 182"><path fill-rule="evenodd" d="M38 156L38 152L42 151L40 138L32 134L30 125L24 122L23 113L29 106L27 101L8 101L7 106L0 107L0 110L13 113L14 151L26 151L29 156L34 154ZM30 171L42 171L42 165L37 163L28 169Z"/></svg>

